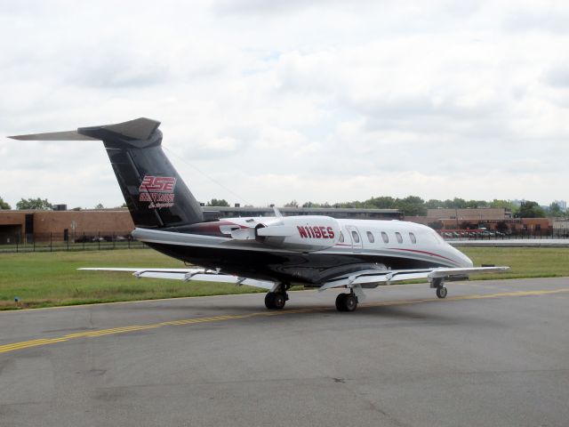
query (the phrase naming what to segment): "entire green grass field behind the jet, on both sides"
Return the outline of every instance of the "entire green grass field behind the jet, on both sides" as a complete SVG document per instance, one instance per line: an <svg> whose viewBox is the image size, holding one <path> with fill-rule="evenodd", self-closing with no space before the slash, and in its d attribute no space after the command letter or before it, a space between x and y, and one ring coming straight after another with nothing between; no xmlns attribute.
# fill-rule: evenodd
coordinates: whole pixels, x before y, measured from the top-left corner
<svg viewBox="0 0 569 427"><path fill-rule="evenodd" d="M509 265L503 274L473 278L569 277L569 248L462 247L475 265ZM79 267L183 265L150 249L0 254L0 310L180 296L264 292L249 286L136 279L129 273L77 271ZM20 303L16 305L14 298Z"/></svg>

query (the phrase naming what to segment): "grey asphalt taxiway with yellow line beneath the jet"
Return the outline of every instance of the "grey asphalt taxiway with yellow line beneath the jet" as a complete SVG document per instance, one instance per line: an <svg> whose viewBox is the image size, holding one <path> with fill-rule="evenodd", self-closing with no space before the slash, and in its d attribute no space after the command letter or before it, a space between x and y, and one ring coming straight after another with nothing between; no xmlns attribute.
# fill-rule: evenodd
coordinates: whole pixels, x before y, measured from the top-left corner
<svg viewBox="0 0 569 427"><path fill-rule="evenodd" d="M569 278L0 312L0 425L566 426Z"/></svg>

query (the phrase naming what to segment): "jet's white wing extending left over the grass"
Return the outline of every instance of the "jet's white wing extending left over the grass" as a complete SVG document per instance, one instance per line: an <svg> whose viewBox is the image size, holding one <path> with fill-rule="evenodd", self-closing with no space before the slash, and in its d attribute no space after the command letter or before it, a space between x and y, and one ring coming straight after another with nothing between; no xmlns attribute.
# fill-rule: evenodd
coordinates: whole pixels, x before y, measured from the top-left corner
<svg viewBox="0 0 569 427"><path fill-rule="evenodd" d="M94 271L129 271L135 278L168 278L173 280L197 280L201 282L218 282L233 283L235 285L247 285L260 287L263 289L272 289L275 284L266 280L257 280L254 278L240 278L229 274L222 274L215 270L205 269L128 269L121 267L90 267L77 270L94 270Z"/></svg>

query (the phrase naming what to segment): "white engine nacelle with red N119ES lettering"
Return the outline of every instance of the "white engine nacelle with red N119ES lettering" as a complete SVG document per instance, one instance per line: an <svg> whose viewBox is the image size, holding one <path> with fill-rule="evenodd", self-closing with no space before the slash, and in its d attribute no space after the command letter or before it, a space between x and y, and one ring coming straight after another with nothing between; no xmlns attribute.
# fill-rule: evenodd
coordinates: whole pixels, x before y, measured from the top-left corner
<svg viewBox="0 0 569 427"><path fill-rule="evenodd" d="M298 252L314 252L334 246L340 224L329 216L284 216L255 227L255 239L266 245Z"/></svg>

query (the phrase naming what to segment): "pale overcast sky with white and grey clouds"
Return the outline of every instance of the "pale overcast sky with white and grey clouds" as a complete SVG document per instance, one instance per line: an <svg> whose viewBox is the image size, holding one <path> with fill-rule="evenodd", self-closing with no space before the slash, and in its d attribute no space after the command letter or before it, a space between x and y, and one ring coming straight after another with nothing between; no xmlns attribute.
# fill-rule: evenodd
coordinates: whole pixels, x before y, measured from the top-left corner
<svg viewBox="0 0 569 427"><path fill-rule="evenodd" d="M568 22L542 0L0 2L0 197L121 205L100 142L4 135L150 117L204 202L549 205Z"/></svg>

